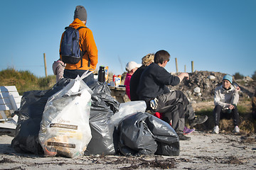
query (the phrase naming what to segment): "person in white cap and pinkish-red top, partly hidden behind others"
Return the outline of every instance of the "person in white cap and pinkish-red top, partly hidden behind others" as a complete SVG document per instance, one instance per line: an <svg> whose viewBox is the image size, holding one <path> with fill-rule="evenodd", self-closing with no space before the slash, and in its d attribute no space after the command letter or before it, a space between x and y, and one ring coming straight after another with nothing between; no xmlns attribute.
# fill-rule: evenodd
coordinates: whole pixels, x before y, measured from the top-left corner
<svg viewBox="0 0 256 170"><path fill-rule="evenodd" d="M125 69L127 70L127 75L124 80L125 92L130 100L131 100L131 96L130 96L129 83L132 78L132 74L134 74L134 72L141 66L142 64L137 64L136 62L128 62L125 67Z"/></svg>

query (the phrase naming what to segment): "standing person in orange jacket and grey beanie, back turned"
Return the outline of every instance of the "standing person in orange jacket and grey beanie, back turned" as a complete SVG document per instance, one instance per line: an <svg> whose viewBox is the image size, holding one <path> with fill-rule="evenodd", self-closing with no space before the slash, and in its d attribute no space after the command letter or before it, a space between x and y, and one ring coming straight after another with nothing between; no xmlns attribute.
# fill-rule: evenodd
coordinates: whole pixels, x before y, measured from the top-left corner
<svg viewBox="0 0 256 170"><path fill-rule="evenodd" d="M85 10L85 7L76 6L74 13L74 21L70 24L70 27L77 29L81 26L85 27L86 23L87 11ZM76 77L78 77L78 75L81 77L82 74L85 73L87 70L91 72L95 71L98 62L97 46L92 35L92 30L86 27L80 28L78 31L80 36L80 50L84 52L84 55L82 56L82 64L81 61L77 64L66 64L63 77L69 79L75 79ZM63 35L60 40L60 45L62 40ZM87 83L89 81L93 81L93 79L93 74L90 74L90 76L83 79L83 81Z"/></svg>

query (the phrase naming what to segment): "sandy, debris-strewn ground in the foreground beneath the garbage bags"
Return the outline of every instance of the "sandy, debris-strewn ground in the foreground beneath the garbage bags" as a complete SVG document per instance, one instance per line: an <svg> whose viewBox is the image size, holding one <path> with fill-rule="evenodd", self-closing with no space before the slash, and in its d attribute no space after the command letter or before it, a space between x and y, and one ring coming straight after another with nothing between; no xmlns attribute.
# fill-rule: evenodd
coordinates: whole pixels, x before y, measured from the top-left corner
<svg viewBox="0 0 256 170"><path fill-rule="evenodd" d="M74 159L21 154L13 137L0 135L0 169L256 169L256 136L195 131L180 141L178 157L81 156Z"/></svg>

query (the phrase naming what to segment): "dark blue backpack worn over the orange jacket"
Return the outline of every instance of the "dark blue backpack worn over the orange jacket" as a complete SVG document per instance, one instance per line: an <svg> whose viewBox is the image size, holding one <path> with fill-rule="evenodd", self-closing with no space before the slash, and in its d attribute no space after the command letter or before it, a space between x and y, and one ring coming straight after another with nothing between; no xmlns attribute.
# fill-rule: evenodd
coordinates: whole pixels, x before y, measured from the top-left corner
<svg viewBox="0 0 256 170"><path fill-rule="evenodd" d="M82 56L85 52L80 50L80 38L78 32L80 28L86 27L81 26L78 29L73 27L65 28L63 40L60 45L60 55L62 57L62 61L68 64L77 64L81 60L82 67Z"/></svg>

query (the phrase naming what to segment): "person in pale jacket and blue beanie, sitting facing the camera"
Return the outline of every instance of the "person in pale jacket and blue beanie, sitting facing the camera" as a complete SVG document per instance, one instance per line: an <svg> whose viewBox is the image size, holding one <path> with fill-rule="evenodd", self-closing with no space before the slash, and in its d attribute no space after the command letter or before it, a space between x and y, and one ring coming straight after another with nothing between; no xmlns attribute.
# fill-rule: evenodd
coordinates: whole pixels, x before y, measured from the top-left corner
<svg viewBox="0 0 256 170"><path fill-rule="evenodd" d="M223 77L222 85L215 88L213 118L215 121L214 133L219 133L219 121L221 118L233 118L235 128L233 132L239 132L238 101L240 91L239 86L233 86L233 77L226 74Z"/></svg>

